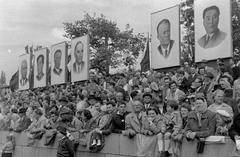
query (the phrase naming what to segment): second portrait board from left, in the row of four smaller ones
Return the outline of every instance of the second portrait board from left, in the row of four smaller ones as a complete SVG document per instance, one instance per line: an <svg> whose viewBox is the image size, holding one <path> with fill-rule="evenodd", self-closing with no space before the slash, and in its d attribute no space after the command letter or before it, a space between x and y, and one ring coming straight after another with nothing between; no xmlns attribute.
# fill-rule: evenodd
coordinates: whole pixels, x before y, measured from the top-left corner
<svg viewBox="0 0 240 157"><path fill-rule="evenodd" d="M34 88L47 85L48 49L43 48L35 52L34 59Z"/></svg>

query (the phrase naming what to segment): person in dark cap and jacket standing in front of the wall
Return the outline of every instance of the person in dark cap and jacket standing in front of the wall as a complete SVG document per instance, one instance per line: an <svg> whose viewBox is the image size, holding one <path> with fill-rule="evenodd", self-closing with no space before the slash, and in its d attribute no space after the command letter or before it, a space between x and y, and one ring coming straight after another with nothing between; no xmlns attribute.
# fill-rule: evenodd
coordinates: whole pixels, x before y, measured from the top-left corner
<svg viewBox="0 0 240 157"><path fill-rule="evenodd" d="M59 140L57 157L74 157L74 144L67 136L67 128L59 126L57 130L58 136L62 137Z"/></svg>

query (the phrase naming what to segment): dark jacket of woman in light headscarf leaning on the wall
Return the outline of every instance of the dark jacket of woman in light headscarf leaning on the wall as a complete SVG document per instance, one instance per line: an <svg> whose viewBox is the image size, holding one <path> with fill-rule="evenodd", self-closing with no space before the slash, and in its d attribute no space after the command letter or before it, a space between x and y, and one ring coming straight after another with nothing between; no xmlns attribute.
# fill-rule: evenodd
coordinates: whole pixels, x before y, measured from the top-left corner
<svg viewBox="0 0 240 157"><path fill-rule="evenodd" d="M188 132L196 132L196 137L198 138L206 138L208 136L214 135L216 130L215 113L210 110L206 110L202 114L201 124L202 126L200 127L195 111L191 111L188 114L185 135L187 135Z"/></svg>

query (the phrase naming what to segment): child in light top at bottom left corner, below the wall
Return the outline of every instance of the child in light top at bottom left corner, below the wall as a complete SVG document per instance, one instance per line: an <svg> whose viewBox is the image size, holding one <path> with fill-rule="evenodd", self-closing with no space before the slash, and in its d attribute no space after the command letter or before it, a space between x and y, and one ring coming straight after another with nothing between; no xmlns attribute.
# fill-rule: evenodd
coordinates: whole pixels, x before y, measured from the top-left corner
<svg viewBox="0 0 240 157"><path fill-rule="evenodd" d="M12 157L13 150L15 148L15 139L12 134L8 135L6 143L2 146L0 151L1 157Z"/></svg>

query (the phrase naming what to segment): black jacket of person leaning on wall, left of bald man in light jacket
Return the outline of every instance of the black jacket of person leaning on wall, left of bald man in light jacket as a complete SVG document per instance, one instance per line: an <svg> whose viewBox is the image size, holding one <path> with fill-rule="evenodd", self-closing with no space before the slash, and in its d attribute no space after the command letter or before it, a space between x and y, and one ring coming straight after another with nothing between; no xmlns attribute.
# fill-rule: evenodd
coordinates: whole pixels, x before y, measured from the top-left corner
<svg viewBox="0 0 240 157"><path fill-rule="evenodd" d="M125 112L123 115L115 113L112 117L111 132L112 133L122 133L125 130L125 117L129 112Z"/></svg>

